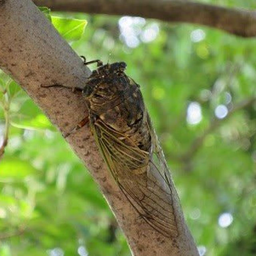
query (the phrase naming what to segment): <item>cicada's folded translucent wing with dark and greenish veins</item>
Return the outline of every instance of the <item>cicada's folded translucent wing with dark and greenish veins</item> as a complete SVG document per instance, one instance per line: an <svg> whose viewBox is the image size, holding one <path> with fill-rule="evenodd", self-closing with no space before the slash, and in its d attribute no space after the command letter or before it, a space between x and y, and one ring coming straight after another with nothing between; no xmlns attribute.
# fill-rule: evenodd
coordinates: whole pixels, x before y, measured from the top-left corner
<svg viewBox="0 0 256 256"><path fill-rule="evenodd" d="M140 216L164 236L178 236L168 169L159 169L160 154L141 150L101 120L92 123L92 130L114 179Z"/></svg>

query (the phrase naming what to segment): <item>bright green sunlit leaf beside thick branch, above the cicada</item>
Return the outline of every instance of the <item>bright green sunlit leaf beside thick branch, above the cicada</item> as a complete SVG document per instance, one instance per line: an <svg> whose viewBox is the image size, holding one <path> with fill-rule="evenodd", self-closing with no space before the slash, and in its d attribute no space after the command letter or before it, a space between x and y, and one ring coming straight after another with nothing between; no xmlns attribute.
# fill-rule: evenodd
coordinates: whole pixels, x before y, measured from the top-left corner
<svg viewBox="0 0 256 256"><path fill-rule="evenodd" d="M52 24L58 32L70 42L81 38L87 21L52 16Z"/></svg>

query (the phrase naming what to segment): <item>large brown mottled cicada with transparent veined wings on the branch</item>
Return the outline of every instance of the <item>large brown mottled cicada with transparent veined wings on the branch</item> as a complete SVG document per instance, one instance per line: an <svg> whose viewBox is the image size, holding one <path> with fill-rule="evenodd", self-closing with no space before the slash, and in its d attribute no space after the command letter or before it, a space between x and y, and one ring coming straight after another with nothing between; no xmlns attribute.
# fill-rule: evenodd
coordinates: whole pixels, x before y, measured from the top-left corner
<svg viewBox="0 0 256 256"><path fill-rule="evenodd" d="M141 218L162 235L176 237L176 191L140 86L125 74L125 62L98 65L83 89L96 143Z"/></svg>

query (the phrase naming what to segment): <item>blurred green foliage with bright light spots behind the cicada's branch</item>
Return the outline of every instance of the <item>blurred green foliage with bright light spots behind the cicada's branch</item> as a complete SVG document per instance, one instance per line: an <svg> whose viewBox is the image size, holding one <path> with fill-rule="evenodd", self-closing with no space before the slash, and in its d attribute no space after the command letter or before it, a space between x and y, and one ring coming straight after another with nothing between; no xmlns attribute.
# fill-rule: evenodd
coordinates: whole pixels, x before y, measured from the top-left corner
<svg viewBox="0 0 256 256"><path fill-rule="evenodd" d="M256 40L188 24L42 11L79 55L128 64L200 255L256 255ZM4 73L0 104L0 145L9 138L0 161L0 256L130 255L80 160Z"/></svg>

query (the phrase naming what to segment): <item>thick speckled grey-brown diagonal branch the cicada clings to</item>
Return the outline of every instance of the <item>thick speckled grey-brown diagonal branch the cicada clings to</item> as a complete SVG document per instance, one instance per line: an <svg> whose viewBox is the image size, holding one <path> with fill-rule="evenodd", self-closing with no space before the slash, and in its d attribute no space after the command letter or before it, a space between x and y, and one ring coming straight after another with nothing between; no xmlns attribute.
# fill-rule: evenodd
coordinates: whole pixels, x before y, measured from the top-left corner
<svg viewBox="0 0 256 256"><path fill-rule="evenodd" d="M41 86L83 87L90 70L32 1L0 0L0 24L0 67L21 84L62 133L69 132L88 115L81 93ZM139 218L104 164L88 126L67 141L98 183L134 256L198 256L176 194L172 200L179 236L172 239Z"/></svg>

